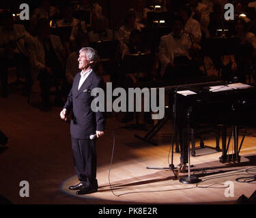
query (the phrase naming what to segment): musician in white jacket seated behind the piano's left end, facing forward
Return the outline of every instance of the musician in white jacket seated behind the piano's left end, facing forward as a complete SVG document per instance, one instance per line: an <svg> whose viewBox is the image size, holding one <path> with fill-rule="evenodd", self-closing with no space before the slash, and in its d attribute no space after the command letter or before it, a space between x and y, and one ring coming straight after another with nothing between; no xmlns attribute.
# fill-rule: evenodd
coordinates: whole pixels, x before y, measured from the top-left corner
<svg viewBox="0 0 256 218"><path fill-rule="evenodd" d="M164 78L184 78L201 76L201 72L192 65L190 49L199 49L198 44L192 44L190 37L184 33L182 18L175 17L173 31L160 38L159 60L162 64L160 75Z"/></svg>

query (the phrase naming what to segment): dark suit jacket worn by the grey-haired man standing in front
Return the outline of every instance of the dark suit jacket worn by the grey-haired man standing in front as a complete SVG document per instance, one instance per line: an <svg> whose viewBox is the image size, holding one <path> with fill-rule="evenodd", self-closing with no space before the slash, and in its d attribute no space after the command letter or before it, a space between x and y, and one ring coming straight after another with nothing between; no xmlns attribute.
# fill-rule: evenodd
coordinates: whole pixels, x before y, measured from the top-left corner
<svg viewBox="0 0 256 218"><path fill-rule="evenodd" d="M73 138L89 139L89 136L94 135L96 131L104 131L104 112L93 112L91 110L91 102L95 98L91 96L91 90L96 87L103 89L104 82L92 70L78 90L80 78L80 73L74 77L72 89L63 108L67 109L67 114L73 110L70 123L71 136Z"/></svg>

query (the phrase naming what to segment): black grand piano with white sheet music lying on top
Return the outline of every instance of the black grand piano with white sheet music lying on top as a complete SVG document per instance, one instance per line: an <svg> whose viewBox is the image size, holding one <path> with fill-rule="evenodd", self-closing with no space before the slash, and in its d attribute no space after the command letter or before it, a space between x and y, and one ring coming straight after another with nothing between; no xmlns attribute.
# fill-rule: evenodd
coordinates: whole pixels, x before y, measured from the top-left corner
<svg viewBox="0 0 256 218"><path fill-rule="evenodd" d="M239 152L245 134L239 144L239 129L256 126L256 87L220 82L214 86L202 84L198 87L186 87L186 90L182 89L182 91L177 91L177 127L182 130L197 129L207 125L218 127L222 136L222 155L219 160L223 163L240 161ZM233 137L233 151L227 154L231 137ZM184 140L184 143L188 144L188 142L189 139ZM186 151L184 149L182 154L185 159Z"/></svg>

